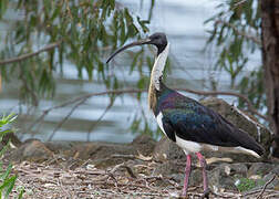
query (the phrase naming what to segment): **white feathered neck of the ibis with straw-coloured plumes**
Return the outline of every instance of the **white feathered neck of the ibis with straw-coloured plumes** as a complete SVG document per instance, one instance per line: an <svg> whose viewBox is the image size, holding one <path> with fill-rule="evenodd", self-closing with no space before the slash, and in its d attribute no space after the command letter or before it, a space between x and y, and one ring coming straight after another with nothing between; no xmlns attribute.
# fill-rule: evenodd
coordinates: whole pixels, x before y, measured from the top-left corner
<svg viewBox="0 0 279 199"><path fill-rule="evenodd" d="M167 43L164 51L162 51L162 53L159 53L158 56L155 59L152 69L151 84L148 91L148 104L149 108L153 109L153 112L155 111L157 104L156 94L162 90L163 72L165 69L168 51L169 51L169 43Z"/></svg>

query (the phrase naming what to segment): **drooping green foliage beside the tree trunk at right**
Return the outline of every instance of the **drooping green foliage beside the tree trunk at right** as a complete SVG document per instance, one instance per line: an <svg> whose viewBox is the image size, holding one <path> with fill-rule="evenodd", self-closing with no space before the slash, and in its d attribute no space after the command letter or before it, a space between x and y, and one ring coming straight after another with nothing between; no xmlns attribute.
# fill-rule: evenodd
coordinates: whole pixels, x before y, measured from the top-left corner
<svg viewBox="0 0 279 199"><path fill-rule="evenodd" d="M257 108L264 109L262 67L247 70L251 55L260 52L260 4L258 1L230 0L221 2L217 10L218 13L205 22L214 27L208 31L207 48L217 46L219 52L214 69L228 73L231 87L247 94ZM239 105L245 107L241 100Z"/></svg>

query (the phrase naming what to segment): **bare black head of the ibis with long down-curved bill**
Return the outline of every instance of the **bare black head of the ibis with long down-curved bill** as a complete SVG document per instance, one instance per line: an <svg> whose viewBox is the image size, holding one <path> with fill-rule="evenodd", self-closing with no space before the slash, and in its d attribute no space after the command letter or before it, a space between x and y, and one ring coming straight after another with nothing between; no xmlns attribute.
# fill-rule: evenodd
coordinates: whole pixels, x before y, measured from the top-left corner
<svg viewBox="0 0 279 199"><path fill-rule="evenodd" d="M118 54L120 52L130 49L132 46L135 45L143 45L143 44L153 44L157 48L157 55L159 55L159 53L162 53L166 45L167 45L167 39L166 39L166 34L162 33L162 32L156 32L154 34L152 34L151 36L136 41L136 42L132 42L130 44L126 44L124 46L122 46L121 49L118 49L117 51L115 51L106 61L106 63L108 63L116 54Z"/></svg>

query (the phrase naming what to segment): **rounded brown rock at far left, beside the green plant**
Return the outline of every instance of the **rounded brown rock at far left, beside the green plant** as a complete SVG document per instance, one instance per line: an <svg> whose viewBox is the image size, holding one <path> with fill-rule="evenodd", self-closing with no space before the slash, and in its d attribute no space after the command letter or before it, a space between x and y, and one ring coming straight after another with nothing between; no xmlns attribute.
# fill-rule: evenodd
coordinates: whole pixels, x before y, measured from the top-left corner
<svg viewBox="0 0 279 199"><path fill-rule="evenodd" d="M29 160L42 163L53 158L53 153L42 142L30 140L24 143L18 149L11 151L7 158L13 161Z"/></svg>

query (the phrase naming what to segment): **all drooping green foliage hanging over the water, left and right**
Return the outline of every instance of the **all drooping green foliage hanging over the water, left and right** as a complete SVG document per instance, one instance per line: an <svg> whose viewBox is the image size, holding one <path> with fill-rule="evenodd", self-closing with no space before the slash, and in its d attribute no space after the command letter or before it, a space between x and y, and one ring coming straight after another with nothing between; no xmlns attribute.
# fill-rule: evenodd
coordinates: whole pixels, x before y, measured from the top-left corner
<svg viewBox="0 0 279 199"><path fill-rule="evenodd" d="M0 23L9 27L9 31L0 35L4 39L4 45L0 46L0 62L53 45L35 56L0 65L1 75L6 82L20 85L23 103L35 106L42 97L52 98L55 95L56 80L69 66L76 70L80 78L95 81L107 90L125 87L125 77L136 73L138 78L130 86L146 88L153 60L145 48L126 51L125 55L132 57L128 64L117 64L118 60L115 59L108 67L104 64L104 57L126 41L148 32L147 24L154 6L155 0L151 0L148 19L143 20L115 0L0 1ZM262 111L266 96L261 66L242 75L250 54L260 48L259 6L257 1L223 1L217 7L218 13L205 23L214 24L207 48L217 46L219 52L214 70L228 73L231 88L248 95ZM13 22L9 20L11 13L16 15ZM124 65L117 67L117 72L123 71L126 76L115 73L113 64ZM110 97L113 103L116 96ZM141 98L142 94L138 93L137 100ZM245 107L241 100L239 105ZM142 118L133 118L132 132L138 132L138 128L140 132L151 132L148 119L142 114Z"/></svg>

